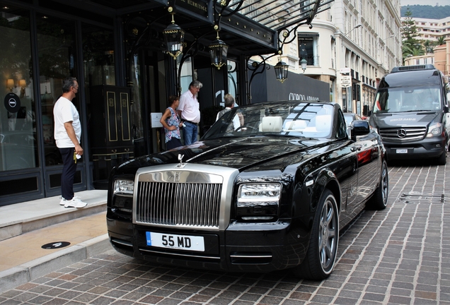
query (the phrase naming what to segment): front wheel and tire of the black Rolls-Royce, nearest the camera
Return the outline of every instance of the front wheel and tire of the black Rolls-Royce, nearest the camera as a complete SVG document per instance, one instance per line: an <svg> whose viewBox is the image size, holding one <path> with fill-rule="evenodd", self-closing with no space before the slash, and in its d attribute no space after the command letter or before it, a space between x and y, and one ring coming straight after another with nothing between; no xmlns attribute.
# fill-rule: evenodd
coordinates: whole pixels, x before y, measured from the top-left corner
<svg viewBox="0 0 450 305"><path fill-rule="evenodd" d="M296 277L324 280L333 271L339 241L339 215L333 193L325 189L314 216L306 257L293 271Z"/></svg>

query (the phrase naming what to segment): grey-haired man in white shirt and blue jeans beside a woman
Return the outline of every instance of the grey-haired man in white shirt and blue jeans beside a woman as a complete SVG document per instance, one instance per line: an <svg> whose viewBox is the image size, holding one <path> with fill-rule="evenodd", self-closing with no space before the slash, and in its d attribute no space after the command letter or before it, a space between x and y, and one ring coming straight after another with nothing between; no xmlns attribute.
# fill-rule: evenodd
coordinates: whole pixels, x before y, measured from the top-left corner
<svg viewBox="0 0 450 305"><path fill-rule="evenodd" d="M178 116L183 121L183 137L185 145L197 142L198 123L200 122L200 104L197 100L198 92L203 84L194 80L189 85L189 90L180 96Z"/></svg>

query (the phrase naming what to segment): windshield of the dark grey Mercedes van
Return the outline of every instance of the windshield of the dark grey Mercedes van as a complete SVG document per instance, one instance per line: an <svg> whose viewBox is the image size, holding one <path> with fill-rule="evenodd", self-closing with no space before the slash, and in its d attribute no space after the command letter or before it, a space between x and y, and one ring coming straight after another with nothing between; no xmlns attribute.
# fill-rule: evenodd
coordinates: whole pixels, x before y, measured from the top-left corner
<svg viewBox="0 0 450 305"><path fill-rule="evenodd" d="M419 112L441 109L439 85L383 88L376 93L373 112Z"/></svg>

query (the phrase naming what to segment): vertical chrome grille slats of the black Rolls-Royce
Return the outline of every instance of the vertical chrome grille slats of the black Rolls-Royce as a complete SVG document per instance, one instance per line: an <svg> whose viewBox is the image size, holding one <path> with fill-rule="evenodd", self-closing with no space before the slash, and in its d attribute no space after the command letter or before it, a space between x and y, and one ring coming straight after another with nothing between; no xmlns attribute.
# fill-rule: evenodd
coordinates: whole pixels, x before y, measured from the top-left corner
<svg viewBox="0 0 450 305"><path fill-rule="evenodd" d="M137 222L219 227L222 184L140 181Z"/></svg>

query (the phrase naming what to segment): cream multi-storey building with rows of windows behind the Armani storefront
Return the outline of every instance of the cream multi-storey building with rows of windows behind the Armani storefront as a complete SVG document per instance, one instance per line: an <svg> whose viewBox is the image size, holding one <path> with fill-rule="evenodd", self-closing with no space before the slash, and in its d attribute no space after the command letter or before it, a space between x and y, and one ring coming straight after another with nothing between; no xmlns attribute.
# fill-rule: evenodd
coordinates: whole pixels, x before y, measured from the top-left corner
<svg viewBox="0 0 450 305"><path fill-rule="evenodd" d="M330 100L344 111L367 114L376 78L402 64L400 1L335 0L311 25L296 29L296 43L284 46L282 61L290 72L329 83Z"/></svg>

